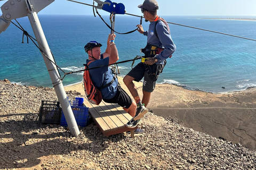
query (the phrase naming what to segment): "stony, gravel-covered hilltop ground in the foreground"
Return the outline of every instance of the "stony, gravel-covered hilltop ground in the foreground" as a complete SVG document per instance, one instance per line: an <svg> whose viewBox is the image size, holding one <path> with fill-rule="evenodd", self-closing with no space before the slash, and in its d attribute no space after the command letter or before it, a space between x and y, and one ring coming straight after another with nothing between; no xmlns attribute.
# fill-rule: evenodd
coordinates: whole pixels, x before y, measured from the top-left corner
<svg viewBox="0 0 256 170"><path fill-rule="evenodd" d="M80 97L68 91L70 99ZM148 113L132 139L104 137L91 123L72 137L57 124L37 121L50 88L0 81L1 169L255 169L256 151L186 128L175 118Z"/></svg>

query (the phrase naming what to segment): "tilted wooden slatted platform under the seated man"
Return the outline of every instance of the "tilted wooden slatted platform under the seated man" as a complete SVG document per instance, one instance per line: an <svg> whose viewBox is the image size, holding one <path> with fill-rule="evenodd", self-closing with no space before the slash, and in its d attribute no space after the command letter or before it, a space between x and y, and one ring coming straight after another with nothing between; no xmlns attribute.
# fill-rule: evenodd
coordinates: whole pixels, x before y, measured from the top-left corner
<svg viewBox="0 0 256 170"><path fill-rule="evenodd" d="M101 101L100 105L92 105L85 99L84 104L89 107L89 112L93 121L99 127L103 135L109 136L113 134L131 131L131 136L134 138L134 130L136 128L127 128L125 124L132 118L118 104L109 104Z"/></svg>

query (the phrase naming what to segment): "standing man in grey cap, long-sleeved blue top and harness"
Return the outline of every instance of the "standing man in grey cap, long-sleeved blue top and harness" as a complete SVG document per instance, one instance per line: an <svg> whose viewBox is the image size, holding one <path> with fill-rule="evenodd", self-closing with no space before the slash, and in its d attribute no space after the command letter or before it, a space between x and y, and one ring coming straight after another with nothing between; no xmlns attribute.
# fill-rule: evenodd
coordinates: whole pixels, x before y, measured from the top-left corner
<svg viewBox="0 0 256 170"><path fill-rule="evenodd" d="M144 31L142 25L137 25L138 31L147 36L147 46L141 50L145 54L145 62L140 62L123 79L137 103L137 112L131 121L139 120L147 113L146 107L151 92L154 91L156 80L162 73L166 59L171 57L176 49L170 35L169 25L157 15L157 1L145 0L138 7L141 8L145 21L149 21L150 24L148 31ZM143 98L141 101L133 80L140 81L143 77Z"/></svg>

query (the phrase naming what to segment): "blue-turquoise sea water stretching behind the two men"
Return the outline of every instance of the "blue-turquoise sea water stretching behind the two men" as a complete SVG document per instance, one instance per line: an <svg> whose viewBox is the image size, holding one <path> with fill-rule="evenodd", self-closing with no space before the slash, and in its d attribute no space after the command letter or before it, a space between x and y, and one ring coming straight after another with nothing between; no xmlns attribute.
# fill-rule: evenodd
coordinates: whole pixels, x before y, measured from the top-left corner
<svg viewBox="0 0 256 170"><path fill-rule="evenodd" d="M87 58L84 45L99 41L102 52L106 49L109 28L97 16L87 15L38 15L55 61L65 72L84 69ZM211 16L215 18L214 16ZM220 16L218 16L220 18ZM234 17L234 16L233 16ZM209 16L164 16L166 21L189 25L231 35L256 39L256 22L234 20L209 20ZM221 18L230 18L223 16ZM237 18L246 18L237 16ZM104 19L110 23L109 16ZM34 37L28 18L18 19L22 27ZM13 21L15 23L15 21ZM116 16L116 31L135 29L140 18ZM147 22L142 25L145 30ZM172 39L177 46L172 58L167 59L157 83L170 83L192 90L213 93L239 91L256 86L256 41L220 35L213 32L169 24ZM43 57L37 47L21 44L22 31L13 24L0 35L0 79L31 86L52 87ZM138 31L129 35L116 35L119 61L142 55L147 37ZM137 64L139 61L135 62ZM131 70L131 64L119 64L121 76ZM63 73L62 77L63 77ZM66 75L63 84L82 81L83 72ZM222 88L222 87L225 87Z"/></svg>

